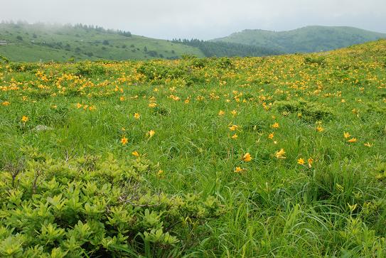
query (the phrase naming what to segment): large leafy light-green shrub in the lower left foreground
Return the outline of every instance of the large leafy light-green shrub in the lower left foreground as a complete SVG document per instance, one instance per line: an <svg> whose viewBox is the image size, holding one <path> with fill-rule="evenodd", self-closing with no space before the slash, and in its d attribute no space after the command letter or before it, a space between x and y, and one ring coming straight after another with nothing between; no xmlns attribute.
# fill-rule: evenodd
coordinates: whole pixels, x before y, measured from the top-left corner
<svg viewBox="0 0 386 258"><path fill-rule="evenodd" d="M144 158L59 160L31 148L23 153L17 162L1 162L1 257L175 254L191 225L220 215L212 196L151 190Z"/></svg>

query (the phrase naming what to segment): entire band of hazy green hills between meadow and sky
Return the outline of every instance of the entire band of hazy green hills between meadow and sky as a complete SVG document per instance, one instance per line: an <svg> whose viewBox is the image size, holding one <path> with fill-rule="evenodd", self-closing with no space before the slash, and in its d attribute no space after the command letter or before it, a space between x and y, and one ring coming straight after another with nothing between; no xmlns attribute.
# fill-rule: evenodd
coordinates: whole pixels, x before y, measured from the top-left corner
<svg viewBox="0 0 386 258"><path fill-rule="evenodd" d="M318 52L386 38L352 27L244 30L212 41L166 41L99 26L0 23L0 55L11 61L144 60Z"/></svg>

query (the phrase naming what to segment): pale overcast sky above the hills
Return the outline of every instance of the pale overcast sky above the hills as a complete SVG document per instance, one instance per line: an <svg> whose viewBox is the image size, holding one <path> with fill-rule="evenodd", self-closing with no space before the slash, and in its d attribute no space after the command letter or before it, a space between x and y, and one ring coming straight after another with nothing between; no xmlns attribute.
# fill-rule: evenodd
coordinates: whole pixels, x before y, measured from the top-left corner
<svg viewBox="0 0 386 258"><path fill-rule="evenodd" d="M386 33L386 0L0 0L0 20L85 23L166 39L307 25Z"/></svg>

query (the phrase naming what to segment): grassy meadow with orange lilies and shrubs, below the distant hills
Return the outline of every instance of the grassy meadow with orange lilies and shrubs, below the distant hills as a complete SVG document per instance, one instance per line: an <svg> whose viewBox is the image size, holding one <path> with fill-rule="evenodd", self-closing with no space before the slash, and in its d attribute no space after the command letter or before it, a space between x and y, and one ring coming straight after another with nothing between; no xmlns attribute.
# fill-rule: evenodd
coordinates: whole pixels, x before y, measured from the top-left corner
<svg viewBox="0 0 386 258"><path fill-rule="evenodd" d="M386 41L0 65L1 257L385 257Z"/></svg>

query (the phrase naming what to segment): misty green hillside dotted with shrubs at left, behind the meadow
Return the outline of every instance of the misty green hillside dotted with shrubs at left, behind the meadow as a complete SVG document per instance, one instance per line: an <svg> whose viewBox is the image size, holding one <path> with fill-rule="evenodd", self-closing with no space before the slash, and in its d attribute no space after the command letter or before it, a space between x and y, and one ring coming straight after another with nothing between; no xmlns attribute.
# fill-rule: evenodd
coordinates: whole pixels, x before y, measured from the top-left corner
<svg viewBox="0 0 386 258"><path fill-rule="evenodd" d="M198 49L94 26L0 23L0 55L12 61L203 57Z"/></svg>

